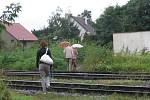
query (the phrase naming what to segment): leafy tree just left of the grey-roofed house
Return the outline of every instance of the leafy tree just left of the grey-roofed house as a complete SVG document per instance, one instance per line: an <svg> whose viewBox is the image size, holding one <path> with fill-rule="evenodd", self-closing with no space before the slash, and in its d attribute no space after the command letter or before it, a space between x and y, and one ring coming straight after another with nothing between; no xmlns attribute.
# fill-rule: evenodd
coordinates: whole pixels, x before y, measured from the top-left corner
<svg viewBox="0 0 150 100"><path fill-rule="evenodd" d="M49 31L53 36L59 36L64 39L75 38L78 36L79 30L68 19L61 17L61 14L56 13L49 19Z"/></svg>

